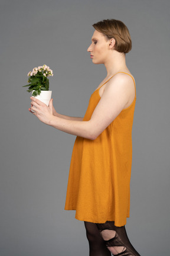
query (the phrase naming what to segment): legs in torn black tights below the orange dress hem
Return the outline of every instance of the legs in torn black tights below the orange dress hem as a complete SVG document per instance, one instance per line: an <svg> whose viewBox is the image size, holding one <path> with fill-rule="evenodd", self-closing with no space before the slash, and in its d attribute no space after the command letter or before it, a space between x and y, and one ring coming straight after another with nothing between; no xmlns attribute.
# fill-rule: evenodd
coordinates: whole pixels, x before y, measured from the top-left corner
<svg viewBox="0 0 170 256"><path fill-rule="evenodd" d="M140 256L130 244L125 226L117 227L115 222L84 224L90 256L110 256L110 252L117 256Z"/></svg>

